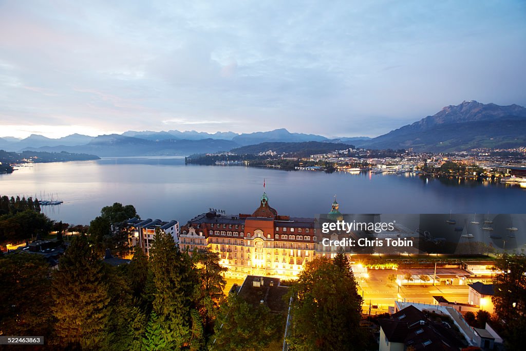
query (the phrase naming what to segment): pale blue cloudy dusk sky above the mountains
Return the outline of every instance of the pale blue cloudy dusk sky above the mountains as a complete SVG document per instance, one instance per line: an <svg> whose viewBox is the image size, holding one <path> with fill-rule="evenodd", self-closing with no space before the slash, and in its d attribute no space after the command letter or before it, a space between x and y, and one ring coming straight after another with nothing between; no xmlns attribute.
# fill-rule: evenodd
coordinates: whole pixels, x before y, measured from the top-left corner
<svg viewBox="0 0 526 351"><path fill-rule="evenodd" d="M0 0L0 136L377 136L526 106L526 2Z"/></svg>

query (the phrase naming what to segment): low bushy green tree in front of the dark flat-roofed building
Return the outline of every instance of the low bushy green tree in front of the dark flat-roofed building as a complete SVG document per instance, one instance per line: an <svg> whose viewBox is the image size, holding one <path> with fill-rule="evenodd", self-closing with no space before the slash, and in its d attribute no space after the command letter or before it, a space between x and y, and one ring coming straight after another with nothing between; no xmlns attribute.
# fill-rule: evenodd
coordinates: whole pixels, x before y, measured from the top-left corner
<svg viewBox="0 0 526 351"><path fill-rule="evenodd" d="M252 306L231 294L219 308L215 324L214 351L252 351L268 346L277 334L280 318L267 306Z"/></svg>

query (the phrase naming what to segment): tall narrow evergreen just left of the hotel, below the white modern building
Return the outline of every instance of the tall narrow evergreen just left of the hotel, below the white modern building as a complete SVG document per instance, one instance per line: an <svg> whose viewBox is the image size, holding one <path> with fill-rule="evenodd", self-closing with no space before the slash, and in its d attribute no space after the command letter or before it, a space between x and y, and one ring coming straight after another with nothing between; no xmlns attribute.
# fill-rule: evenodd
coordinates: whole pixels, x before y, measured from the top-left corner
<svg viewBox="0 0 526 351"><path fill-rule="evenodd" d="M153 310L157 316L153 327L160 328L163 345L177 350L188 342L190 334L190 258L180 252L171 235L159 229L149 253L155 285Z"/></svg>

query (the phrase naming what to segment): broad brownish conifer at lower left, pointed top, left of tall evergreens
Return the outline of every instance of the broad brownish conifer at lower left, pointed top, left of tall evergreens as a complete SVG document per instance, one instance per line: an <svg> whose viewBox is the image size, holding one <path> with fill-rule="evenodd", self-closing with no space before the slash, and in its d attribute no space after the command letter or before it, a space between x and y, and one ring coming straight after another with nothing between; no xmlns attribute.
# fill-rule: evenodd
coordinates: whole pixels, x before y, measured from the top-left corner
<svg viewBox="0 0 526 351"><path fill-rule="evenodd" d="M107 273L85 235L72 240L58 267L53 279L55 342L65 348L109 349Z"/></svg>

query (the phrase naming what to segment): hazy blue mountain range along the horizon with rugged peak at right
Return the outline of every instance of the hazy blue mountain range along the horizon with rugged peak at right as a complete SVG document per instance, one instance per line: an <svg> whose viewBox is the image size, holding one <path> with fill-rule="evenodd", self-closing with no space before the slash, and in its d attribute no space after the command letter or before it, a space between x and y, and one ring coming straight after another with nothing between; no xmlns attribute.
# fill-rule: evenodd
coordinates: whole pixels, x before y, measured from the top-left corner
<svg viewBox="0 0 526 351"><path fill-rule="evenodd" d="M371 149L408 149L449 152L477 147L526 146L526 108L464 101L442 108L413 124L375 138L339 137L290 133L287 129L237 134L196 131L127 131L97 137L72 134L58 139L32 134L25 139L0 138L6 151L88 153L98 156L188 155L229 151L261 143L342 143Z"/></svg>

